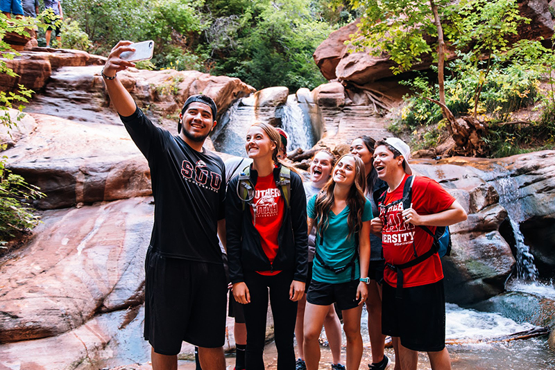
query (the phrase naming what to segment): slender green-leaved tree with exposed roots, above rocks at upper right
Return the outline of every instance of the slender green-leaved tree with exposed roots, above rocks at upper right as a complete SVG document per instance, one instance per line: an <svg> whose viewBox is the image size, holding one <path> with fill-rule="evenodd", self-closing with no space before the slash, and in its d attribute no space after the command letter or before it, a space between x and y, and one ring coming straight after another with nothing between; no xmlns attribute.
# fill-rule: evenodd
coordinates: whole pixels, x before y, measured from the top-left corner
<svg viewBox="0 0 555 370"><path fill-rule="evenodd" d="M387 53L393 62L393 73L409 70L423 58L434 57L438 73L438 100L432 89L421 90L423 97L441 107L447 130L457 145L468 153L475 152L470 135L484 131L477 121L477 107L484 85L488 82L495 58L509 60L517 55L522 43L511 43L518 26L529 19L518 14L516 0L350 0L355 8L364 9L360 22L363 37L352 39L357 49L379 55ZM480 78L472 95L472 119L459 125L445 99L445 43L466 54L468 63L479 71ZM481 66L486 60L486 67ZM511 62L514 62L511 60Z"/></svg>

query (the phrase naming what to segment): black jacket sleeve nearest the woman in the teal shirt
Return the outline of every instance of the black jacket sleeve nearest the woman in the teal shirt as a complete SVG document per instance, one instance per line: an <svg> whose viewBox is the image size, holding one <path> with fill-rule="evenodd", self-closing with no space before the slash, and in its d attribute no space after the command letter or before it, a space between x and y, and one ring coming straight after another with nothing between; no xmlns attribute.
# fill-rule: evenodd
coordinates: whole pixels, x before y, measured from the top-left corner
<svg viewBox="0 0 555 370"><path fill-rule="evenodd" d="M295 239L296 281L306 281L308 273L307 196L305 186L296 173L291 171L291 227Z"/></svg>

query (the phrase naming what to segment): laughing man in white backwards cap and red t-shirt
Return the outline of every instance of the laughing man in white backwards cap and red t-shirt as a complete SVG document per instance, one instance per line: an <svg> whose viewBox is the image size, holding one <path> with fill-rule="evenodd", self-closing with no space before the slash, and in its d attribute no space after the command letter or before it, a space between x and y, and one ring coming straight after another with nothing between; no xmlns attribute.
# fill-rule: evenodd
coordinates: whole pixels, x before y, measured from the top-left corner
<svg viewBox="0 0 555 370"><path fill-rule="evenodd" d="M432 233L438 226L449 226L466 220L466 211L437 182L427 177L414 177L411 206L404 209L404 183L412 170L407 159L409 146L397 138L375 143L374 167L380 179L388 184L379 217L372 220L372 230L381 231L384 258L390 268L384 271L382 297L382 332L391 335L396 361L403 370L415 370L418 351L428 353L434 370L451 369L445 348L445 294L443 270L438 254L402 270L402 298L395 297L398 271L402 265L421 256L432 247Z"/></svg>

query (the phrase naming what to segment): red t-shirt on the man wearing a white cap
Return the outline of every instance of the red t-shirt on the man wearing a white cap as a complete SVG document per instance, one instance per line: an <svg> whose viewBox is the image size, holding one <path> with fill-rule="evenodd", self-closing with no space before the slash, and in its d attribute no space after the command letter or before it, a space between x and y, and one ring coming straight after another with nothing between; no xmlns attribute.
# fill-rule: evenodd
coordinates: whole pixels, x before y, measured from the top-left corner
<svg viewBox="0 0 555 370"><path fill-rule="evenodd" d="M383 204L391 204L403 197L404 182L409 175L391 193L386 193ZM448 209L455 201L440 184L428 177L416 176L412 186L412 208L419 215L430 215ZM432 246L433 238L426 231L413 224L405 224L402 220L403 204L391 206L387 210L379 207L379 217L384 222L382 229L382 247L386 262L392 265L401 265L414 259L414 245L418 256L424 254ZM432 232L435 227L428 227ZM443 269L438 254L427 258L425 261L403 270L403 287L409 288L418 285L432 284L443 279ZM389 285L397 286L397 273L386 267L384 280Z"/></svg>

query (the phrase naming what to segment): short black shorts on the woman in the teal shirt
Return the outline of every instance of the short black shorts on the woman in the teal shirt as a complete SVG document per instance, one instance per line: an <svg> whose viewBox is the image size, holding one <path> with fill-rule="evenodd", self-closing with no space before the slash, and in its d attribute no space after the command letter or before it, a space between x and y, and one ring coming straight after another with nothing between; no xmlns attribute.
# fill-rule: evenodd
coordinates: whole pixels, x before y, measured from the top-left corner
<svg viewBox="0 0 555 370"><path fill-rule="evenodd" d="M317 306L330 306L337 303L339 310L350 310L359 305L357 301L358 280L330 284L312 281L307 293L307 302Z"/></svg>

